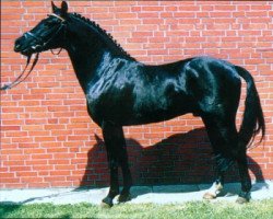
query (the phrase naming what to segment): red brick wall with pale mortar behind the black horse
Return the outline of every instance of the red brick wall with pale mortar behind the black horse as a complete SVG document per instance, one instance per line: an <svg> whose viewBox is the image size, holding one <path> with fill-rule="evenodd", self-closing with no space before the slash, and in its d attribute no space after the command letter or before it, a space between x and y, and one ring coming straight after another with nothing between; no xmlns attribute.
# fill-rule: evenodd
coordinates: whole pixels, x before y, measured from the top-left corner
<svg viewBox="0 0 273 219"><path fill-rule="evenodd" d="M59 2L57 2L59 3ZM266 120L263 146L248 152L252 178L273 178L273 11L271 1L82 1L70 11L96 21L138 60L164 64L211 55L252 72ZM49 1L1 2L1 83L20 74L25 58L16 37L50 13ZM241 110L238 113L238 125ZM213 180L213 160L200 118L124 128L136 184ZM43 53L31 77L1 91L0 187L107 185L100 129L66 51ZM228 180L238 180L236 168Z"/></svg>

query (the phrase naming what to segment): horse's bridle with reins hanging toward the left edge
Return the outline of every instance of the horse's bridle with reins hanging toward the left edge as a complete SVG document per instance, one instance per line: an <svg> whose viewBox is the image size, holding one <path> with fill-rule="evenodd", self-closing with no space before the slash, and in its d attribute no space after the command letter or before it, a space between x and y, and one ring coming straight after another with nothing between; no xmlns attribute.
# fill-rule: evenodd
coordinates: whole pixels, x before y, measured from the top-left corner
<svg viewBox="0 0 273 219"><path fill-rule="evenodd" d="M55 37L59 34L59 32L60 32L62 28L64 28L64 27L67 26L67 21L66 21L63 18L61 18L61 16L55 14L55 13L48 14L48 16L55 16L55 18L59 19L59 20L61 21L61 23L60 23L60 26L58 27L58 30L55 32L55 34L54 34L47 42L43 43L43 45L37 45L37 46L35 47L35 48L37 48L37 47L39 46L41 50L44 50L44 48L46 48L46 46L47 46L48 44L50 44L50 43L55 39ZM33 37L33 38L35 38L38 43L41 43L41 42L43 42L43 38L37 37L35 34L33 34L33 33L29 32L29 31L26 32L23 36L24 36L24 37ZM64 37L66 37L66 31L64 31ZM61 50L62 50L62 48L60 48L60 50L57 51L57 53L55 54L54 50L50 49L51 54L54 54L54 55L59 55L59 54L61 53ZM15 85L22 83L22 82L31 74L32 70L34 69L34 67L35 67L36 64L38 62L39 53L36 54L35 59L34 59L34 61L33 61L33 65L32 65L29 71L27 72L27 74L21 80L21 78L22 78L22 77L24 76L24 73L25 73L25 70L26 70L28 64L31 62L31 58L32 58L32 55L28 55L28 56L27 56L27 60L26 60L26 66L25 66L25 68L24 68L24 70L23 70L23 72L22 72L13 82L11 82L10 84L4 84L3 87L1 87L0 90L12 89L13 87L15 87Z"/></svg>

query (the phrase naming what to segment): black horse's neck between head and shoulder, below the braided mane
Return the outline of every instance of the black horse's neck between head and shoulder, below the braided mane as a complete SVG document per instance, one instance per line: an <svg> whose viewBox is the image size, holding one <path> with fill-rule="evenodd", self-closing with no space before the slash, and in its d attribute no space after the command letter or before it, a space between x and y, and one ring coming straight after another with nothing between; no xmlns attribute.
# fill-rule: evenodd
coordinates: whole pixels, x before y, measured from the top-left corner
<svg viewBox="0 0 273 219"><path fill-rule="evenodd" d="M96 77L96 70L102 61L110 61L115 57L126 57L120 48L111 43L106 42L106 36L91 30L87 24L76 23L72 31L67 33L66 48L72 61L79 82L85 92L90 82Z"/></svg>

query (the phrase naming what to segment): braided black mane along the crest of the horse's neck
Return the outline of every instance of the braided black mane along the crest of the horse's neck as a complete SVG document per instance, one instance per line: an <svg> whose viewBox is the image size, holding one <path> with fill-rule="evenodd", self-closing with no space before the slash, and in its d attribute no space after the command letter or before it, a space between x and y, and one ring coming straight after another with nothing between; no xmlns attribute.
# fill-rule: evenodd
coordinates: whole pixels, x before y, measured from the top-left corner
<svg viewBox="0 0 273 219"><path fill-rule="evenodd" d="M72 13L72 16L81 20L85 24L90 25L92 28L95 28L98 34L100 34L104 38L112 43L114 45L117 46L117 48L121 51L122 55L128 56L129 58L135 60L133 57L131 57L130 54L128 54L119 43L117 43L116 39L114 39L112 35L110 33L107 33L104 28L102 28L96 22L91 21L90 19L86 19L85 16L79 14L79 13Z"/></svg>

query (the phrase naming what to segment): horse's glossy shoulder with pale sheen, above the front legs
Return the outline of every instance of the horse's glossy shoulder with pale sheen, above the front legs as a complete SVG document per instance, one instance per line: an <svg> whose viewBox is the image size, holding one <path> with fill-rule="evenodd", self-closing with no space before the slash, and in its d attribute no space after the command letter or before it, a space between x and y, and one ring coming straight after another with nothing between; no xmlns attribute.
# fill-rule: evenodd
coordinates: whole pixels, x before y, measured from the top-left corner
<svg viewBox="0 0 273 219"><path fill-rule="evenodd" d="M102 118L117 120L122 111L129 111L139 71L140 65L122 58L112 59L104 68L100 67L98 77L91 82L86 92L88 113L97 124L103 123Z"/></svg>

